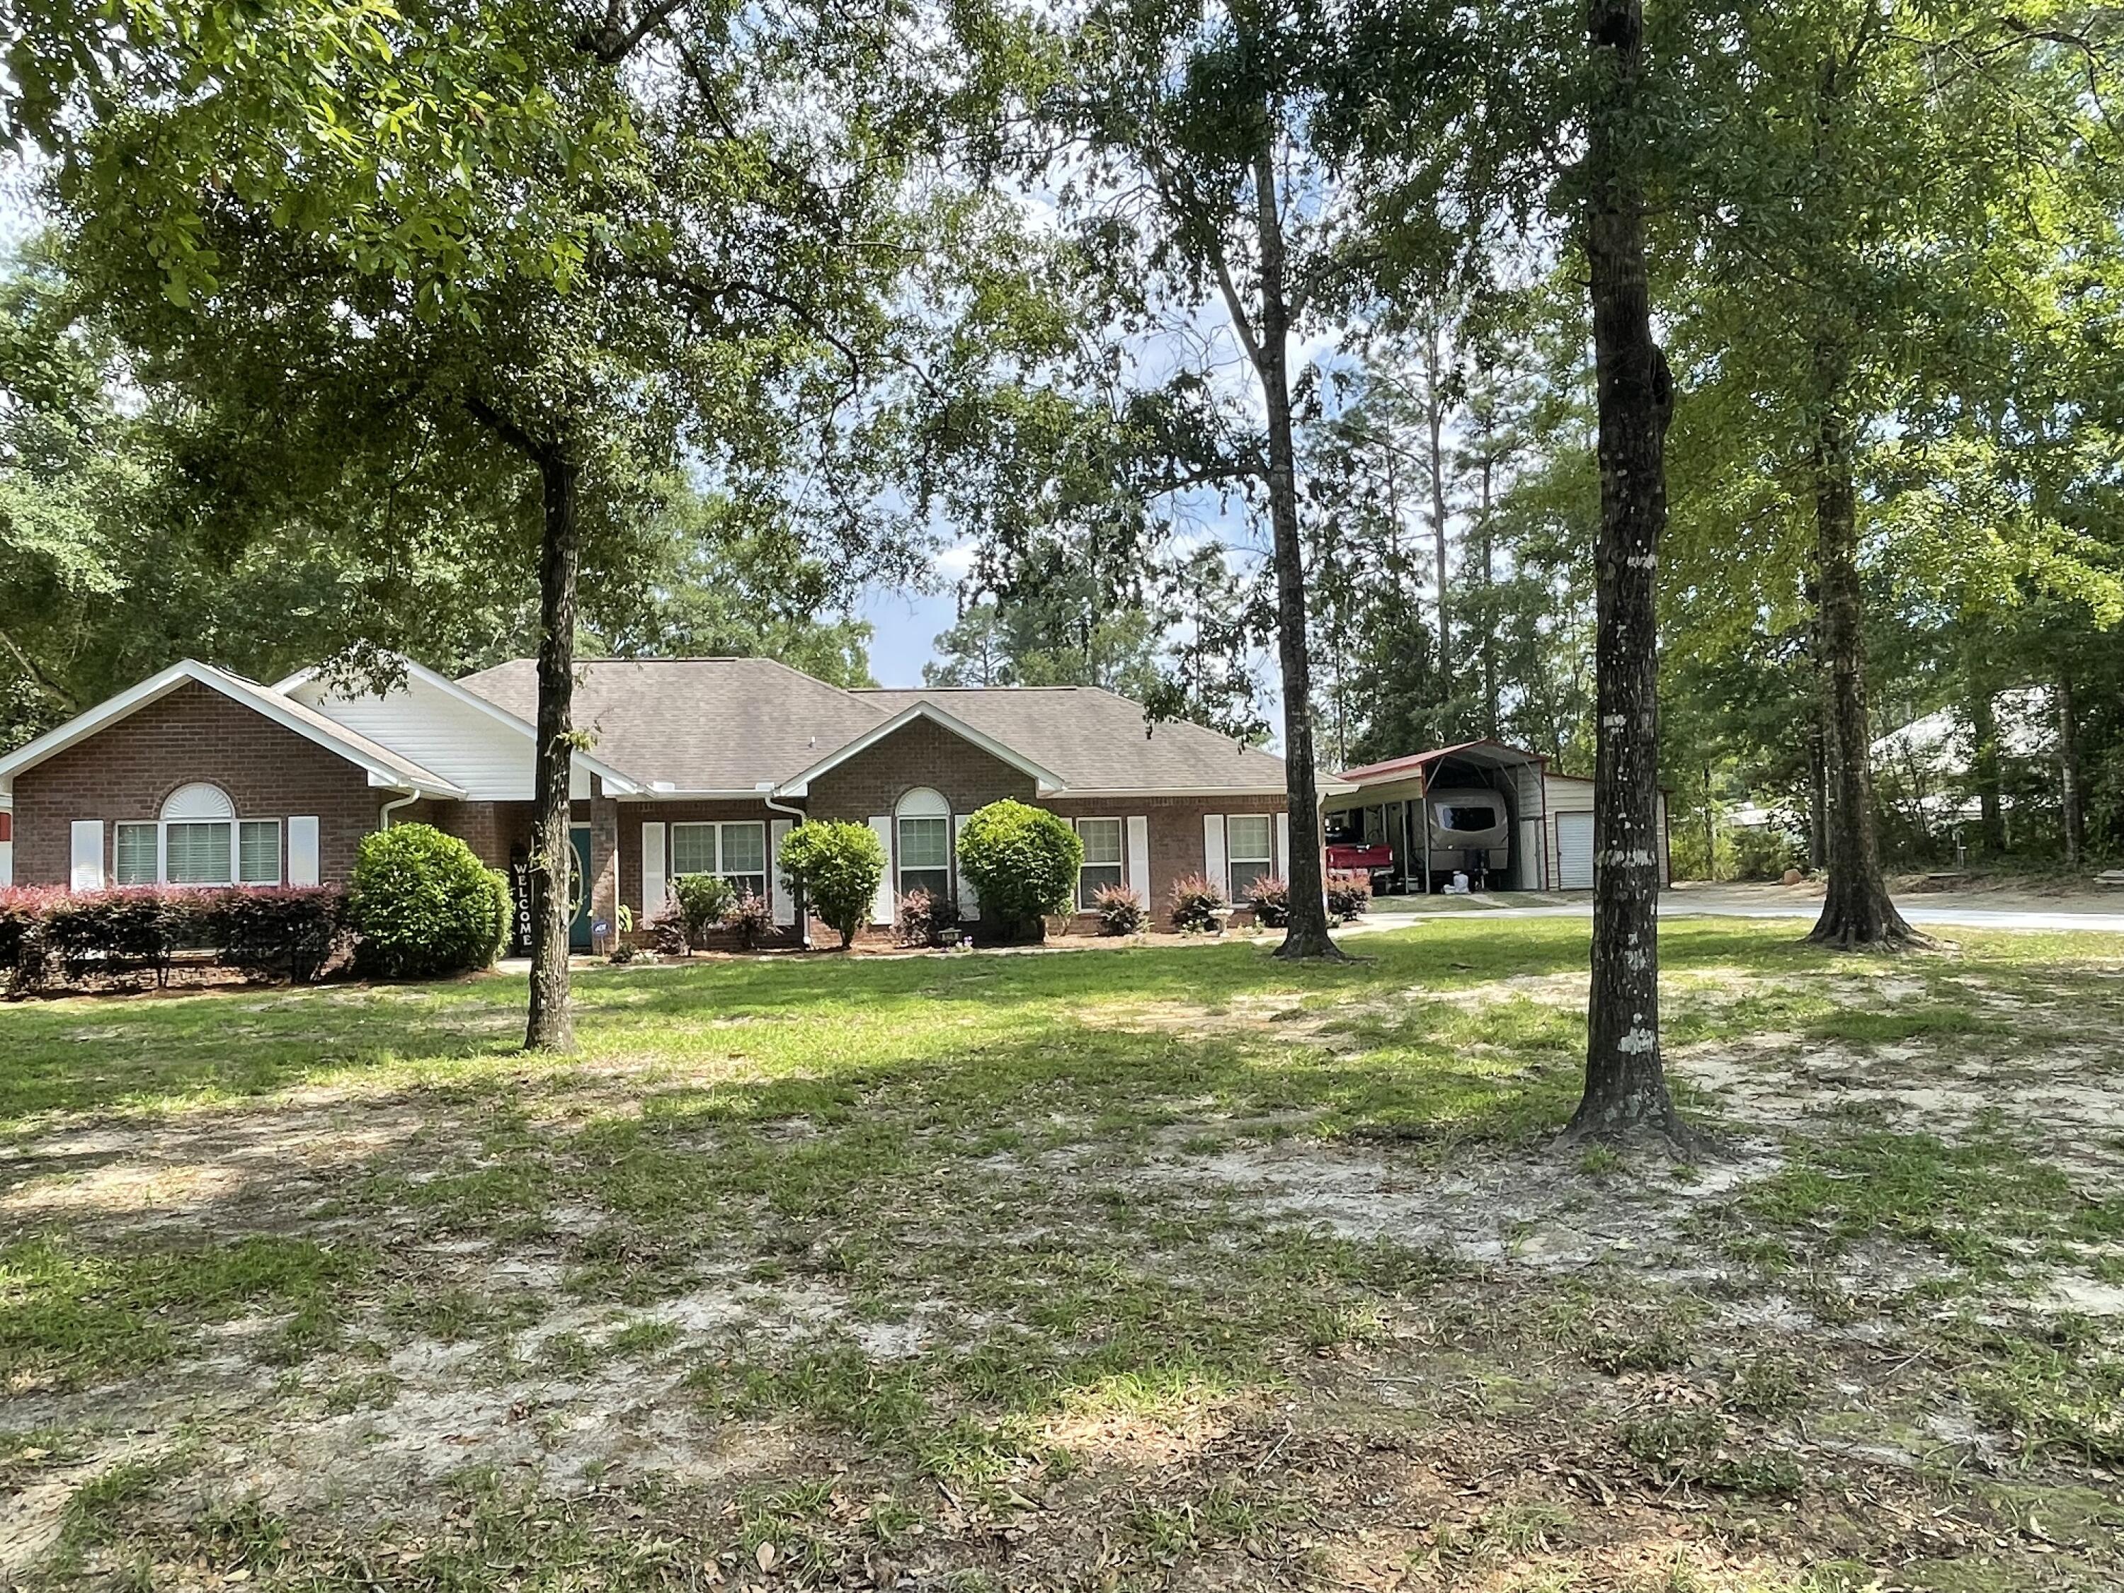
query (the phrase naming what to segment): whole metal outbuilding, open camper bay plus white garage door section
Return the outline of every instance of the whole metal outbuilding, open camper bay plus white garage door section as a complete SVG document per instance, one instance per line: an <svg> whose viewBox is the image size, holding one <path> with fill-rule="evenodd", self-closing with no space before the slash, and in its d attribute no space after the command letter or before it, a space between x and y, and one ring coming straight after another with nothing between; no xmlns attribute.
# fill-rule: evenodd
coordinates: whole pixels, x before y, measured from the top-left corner
<svg viewBox="0 0 2124 1593"><path fill-rule="evenodd" d="M1391 890L1436 890L1455 873L1493 890L1593 888L1593 782L1559 775L1540 752L1463 741L1344 769L1328 803L1328 843L1393 847ZM1659 877L1667 856L1667 794L1659 794Z"/></svg>

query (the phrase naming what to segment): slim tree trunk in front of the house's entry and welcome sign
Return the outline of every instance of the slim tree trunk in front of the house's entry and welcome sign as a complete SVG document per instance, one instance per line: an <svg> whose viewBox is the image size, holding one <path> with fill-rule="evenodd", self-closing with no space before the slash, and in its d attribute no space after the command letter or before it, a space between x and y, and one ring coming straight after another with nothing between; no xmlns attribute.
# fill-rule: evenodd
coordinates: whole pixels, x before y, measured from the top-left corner
<svg viewBox="0 0 2124 1593"><path fill-rule="evenodd" d="M573 765L569 729L576 692L576 495L580 469L561 450L537 461L546 527L537 561L537 756L531 796L537 803L531 843L531 1017L525 1049L567 1051L576 1020L567 1005L569 871L567 788Z"/></svg>

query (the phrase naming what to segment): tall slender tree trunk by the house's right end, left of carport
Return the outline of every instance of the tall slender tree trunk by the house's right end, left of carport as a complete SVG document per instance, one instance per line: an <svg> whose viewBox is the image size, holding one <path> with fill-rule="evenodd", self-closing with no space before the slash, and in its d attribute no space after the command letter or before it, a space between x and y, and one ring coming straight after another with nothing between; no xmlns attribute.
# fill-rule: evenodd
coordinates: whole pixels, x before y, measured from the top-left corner
<svg viewBox="0 0 2124 1593"><path fill-rule="evenodd" d="M1321 877L1321 805L1313 767L1313 669L1306 656L1306 571L1298 539L1298 448L1291 440L1289 299L1283 282L1283 217L1274 153L1253 157L1253 221L1262 251L1262 323L1255 365L1268 406L1268 523L1277 548L1277 661L1283 667L1283 780L1291 811L1291 915L1279 958L1340 958L1328 935Z"/></svg>

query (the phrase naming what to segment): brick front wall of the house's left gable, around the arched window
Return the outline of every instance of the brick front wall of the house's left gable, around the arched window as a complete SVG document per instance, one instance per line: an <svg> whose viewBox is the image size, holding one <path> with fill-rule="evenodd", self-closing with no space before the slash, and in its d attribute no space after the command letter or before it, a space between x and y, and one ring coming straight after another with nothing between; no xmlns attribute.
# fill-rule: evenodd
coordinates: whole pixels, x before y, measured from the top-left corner
<svg viewBox="0 0 2124 1593"><path fill-rule="evenodd" d="M274 724L210 686L185 682L168 697L76 741L15 775L15 884L72 879L76 818L104 824L104 879L113 871L117 822L153 820L178 786L206 780L236 803L238 818L278 818L287 877L287 820L316 816L316 867L344 881L355 845L376 828L391 792L308 737Z"/></svg>

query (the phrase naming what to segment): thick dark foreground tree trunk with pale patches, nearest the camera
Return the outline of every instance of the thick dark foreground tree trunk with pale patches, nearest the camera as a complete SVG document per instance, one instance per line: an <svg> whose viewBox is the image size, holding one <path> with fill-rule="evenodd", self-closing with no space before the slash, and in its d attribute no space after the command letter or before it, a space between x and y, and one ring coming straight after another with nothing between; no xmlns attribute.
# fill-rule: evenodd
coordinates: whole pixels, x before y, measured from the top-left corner
<svg viewBox="0 0 2124 1593"><path fill-rule="evenodd" d="M1597 754L1593 769L1593 988L1587 1085L1568 1138L1695 1134L1659 1056L1659 533L1667 520L1674 378L1652 340L1644 183L1629 123L1642 115L1640 0L1591 0L1601 102L1587 134L1585 246L1599 397L1599 537L1593 546Z"/></svg>

